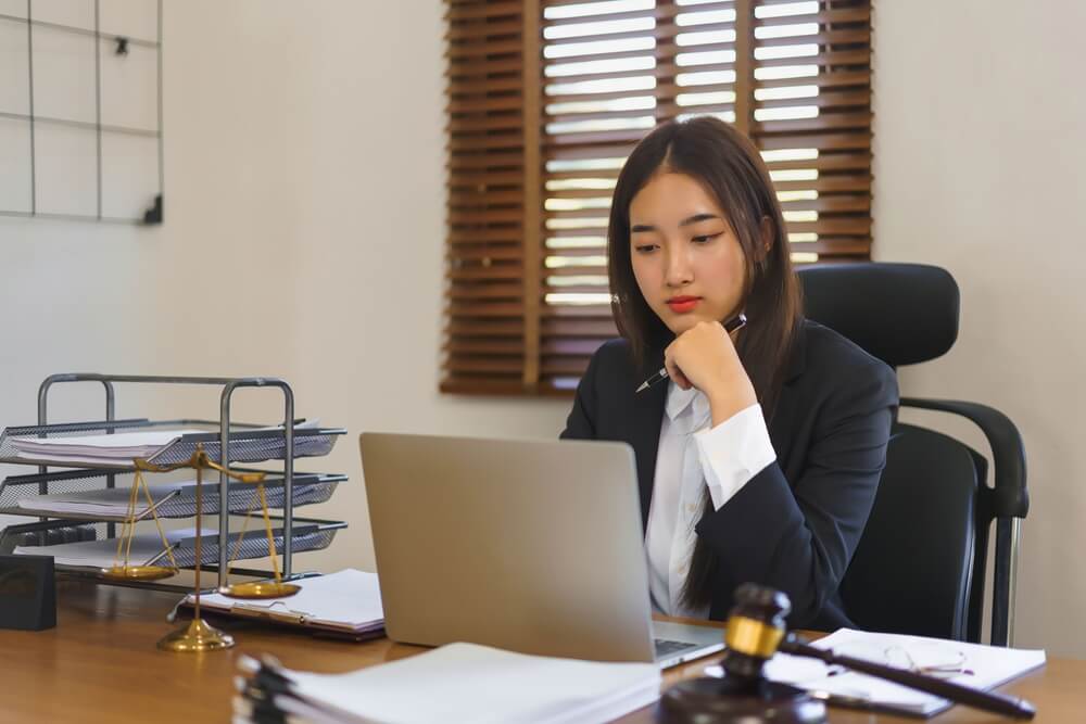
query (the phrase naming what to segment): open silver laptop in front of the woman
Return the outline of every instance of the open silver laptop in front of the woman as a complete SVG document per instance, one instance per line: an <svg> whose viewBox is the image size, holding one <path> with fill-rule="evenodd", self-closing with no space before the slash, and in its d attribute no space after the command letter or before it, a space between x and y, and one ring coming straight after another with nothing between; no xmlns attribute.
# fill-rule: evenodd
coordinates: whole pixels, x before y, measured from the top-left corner
<svg viewBox="0 0 1086 724"><path fill-rule="evenodd" d="M363 433L390 638L672 666L720 628L652 620L633 448Z"/></svg>

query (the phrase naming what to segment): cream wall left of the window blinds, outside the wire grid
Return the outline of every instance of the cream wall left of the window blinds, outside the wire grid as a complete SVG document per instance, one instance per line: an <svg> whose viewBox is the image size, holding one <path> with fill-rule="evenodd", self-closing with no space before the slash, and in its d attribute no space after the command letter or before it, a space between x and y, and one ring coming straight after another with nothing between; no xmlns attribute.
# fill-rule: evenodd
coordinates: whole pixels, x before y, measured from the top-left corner
<svg viewBox="0 0 1086 724"><path fill-rule="evenodd" d="M33 422L55 371L283 377L299 414L350 431L303 469L351 475L304 511L351 528L299 563L370 570L361 431L556 436L565 402L437 391L442 12L438 0L167 0L166 223L0 218L0 424ZM56 395L68 417L100 403L98 390ZM249 418L280 404L239 403ZM118 414L148 407L218 409L206 393L121 391Z"/></svg>

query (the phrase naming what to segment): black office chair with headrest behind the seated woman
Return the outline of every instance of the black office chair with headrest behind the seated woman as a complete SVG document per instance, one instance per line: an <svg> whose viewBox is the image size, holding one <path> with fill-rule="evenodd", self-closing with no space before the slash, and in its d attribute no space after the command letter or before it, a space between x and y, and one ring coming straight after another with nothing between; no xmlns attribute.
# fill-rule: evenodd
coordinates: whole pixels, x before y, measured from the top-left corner
<svg viewBox="0 0 1086 724"><path fill-rule="evenodd" d="M958 336L958 285L918 264L842 264L799 272L807 316L895 369L945 354ZM1018 429L985 405L901 398L971 420L987 460L948 435L895 422L874 508L841 594L868 631L980 642L988 532L995 521L992 636L1009 645L1022 519L1030 508Z"/></svg>

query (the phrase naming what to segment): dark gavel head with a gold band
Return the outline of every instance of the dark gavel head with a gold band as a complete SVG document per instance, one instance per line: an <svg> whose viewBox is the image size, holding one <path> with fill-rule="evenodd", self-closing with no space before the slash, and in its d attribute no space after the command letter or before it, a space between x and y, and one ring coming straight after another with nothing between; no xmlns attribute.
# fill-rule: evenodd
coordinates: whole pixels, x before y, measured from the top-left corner
<svg viewBox="0 0 1086 724"><path fill-rule="evenodd" d="M752 683L761 678L762 665L784 638L784 617L791 610L792 602L780 590L755 583L735 589L724 634L728 650L721 661L728 676Z"/></svg>

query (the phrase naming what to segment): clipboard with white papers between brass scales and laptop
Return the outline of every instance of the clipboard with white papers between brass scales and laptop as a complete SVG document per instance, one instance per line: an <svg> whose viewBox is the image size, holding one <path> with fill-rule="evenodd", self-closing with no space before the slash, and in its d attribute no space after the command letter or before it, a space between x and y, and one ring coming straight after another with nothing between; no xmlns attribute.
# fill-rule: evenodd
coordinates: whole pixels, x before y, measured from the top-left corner
<svg viewBox="0 0 1086 724"><path fill-rule="evenodd" d="M352 638L383 633L384 611L376 573L349 568L291 583L302 588L293 596L240 600L212 594L201 596L200 606L225 615L266 619ZM189 595L184 605L191 606L192 601Z"/></svg>

